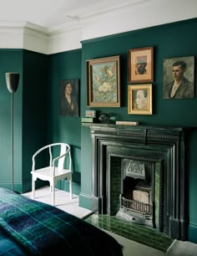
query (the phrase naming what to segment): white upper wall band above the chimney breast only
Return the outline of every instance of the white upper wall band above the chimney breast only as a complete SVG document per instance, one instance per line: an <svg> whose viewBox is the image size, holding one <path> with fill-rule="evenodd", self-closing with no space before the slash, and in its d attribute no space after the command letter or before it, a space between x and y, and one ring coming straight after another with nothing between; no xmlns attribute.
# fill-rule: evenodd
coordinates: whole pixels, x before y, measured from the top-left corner
<svg viewBox="0 0 197 256"><path fill-rule="evenodd" d="M116 13L109 13L101 19L87 22L82 32L82 40L99 38L134 31L141 28L149 28L166 23L174 23L189 18L197 17L197 1L178 0L179 8L176 1L165 0L152 3L144 3L143 8L127 8L126 10ZM190 3L190 5L189 5ZM186 10L186 12L185 12ZM114 17L117 17L115 20ZM107 24L107 25L106 25Z"/></svg>

